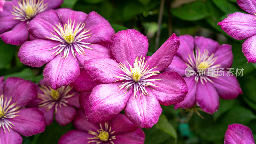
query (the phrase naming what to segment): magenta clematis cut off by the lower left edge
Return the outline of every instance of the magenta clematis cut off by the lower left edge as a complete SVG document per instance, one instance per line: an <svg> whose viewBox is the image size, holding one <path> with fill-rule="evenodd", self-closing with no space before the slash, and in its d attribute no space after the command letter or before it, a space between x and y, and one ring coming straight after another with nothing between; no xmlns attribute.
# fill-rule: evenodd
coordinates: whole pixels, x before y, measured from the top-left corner
<svg viewBox="0 0 256 144"><path fill-rule="evenodd" d="M21 78L0 77L0 143L21 144L23 136L45 129L45 118L37 108L23 108L36 98L35 85Z"/></svg>

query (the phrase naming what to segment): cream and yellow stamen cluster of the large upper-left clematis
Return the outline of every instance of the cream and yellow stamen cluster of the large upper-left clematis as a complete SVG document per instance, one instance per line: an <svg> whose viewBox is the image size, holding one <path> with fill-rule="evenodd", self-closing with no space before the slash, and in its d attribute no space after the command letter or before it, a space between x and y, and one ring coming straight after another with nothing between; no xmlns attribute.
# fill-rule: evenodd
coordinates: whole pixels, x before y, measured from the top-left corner
<svg viewBox="0 0 256 144"><path fill-rule="evenodd" d="M64 51L62 58L67 58L68 54L71 52L73 57L76 57L76 53L79 55L85 55L84 48L85 49L91 49L90 47L86 46L85 44L93 45L91 43L82 42L82 40L90 38L92 34L87 34L90 30L84 29L85 23L77 23L75 27L75 20L72 23L72 20L68 20L68 24L64 25L64 28L59 23L59 25L56 25L57 28L53 27L54 32L57 33L57 35L52 34L51 37L46 37L48 39L54 40L54 41L60 41L61 44L53 47L52 49L57 49L55 52L52 53L55 55L61 54L62 51ZM52 49L49 49L52 50Z"/></svg>

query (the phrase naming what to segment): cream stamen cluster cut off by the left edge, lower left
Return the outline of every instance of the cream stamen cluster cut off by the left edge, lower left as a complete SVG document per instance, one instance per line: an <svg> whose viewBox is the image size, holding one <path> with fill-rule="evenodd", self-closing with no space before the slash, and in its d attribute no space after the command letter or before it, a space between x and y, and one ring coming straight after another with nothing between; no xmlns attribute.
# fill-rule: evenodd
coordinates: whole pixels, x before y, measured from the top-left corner
<svg viewBox="0 0 256 144"><path fill-rule="evenodd" d="M4 95L2 94L0 96L0 129L3 128L5 134L6 134L6 129L10 132L9 127L12 129L12 126L14 126L14 124L12 124L12 122L10 122L8 119L19 116L16 114L20 112L20 111L17 111L20 108L19 106L16 105L17 102L10 104L11 101L12 101L12 97L10 97L9 101L7 100L7 97L5 97L5 101L4 101Z"/></svg>

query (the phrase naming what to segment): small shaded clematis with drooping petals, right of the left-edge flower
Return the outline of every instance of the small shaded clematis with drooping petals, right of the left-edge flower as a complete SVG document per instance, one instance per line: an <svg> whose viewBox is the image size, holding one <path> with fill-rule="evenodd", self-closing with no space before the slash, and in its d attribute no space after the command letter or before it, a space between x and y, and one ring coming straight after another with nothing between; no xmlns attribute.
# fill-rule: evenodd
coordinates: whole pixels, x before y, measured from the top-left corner
<svg viewBox="0 0 256 144"><path fill-rule="evenodd" d="M37 86L37 98L29 103L28 107L37 107L44 113L46 125L50 125L55 114L56 121L64 126L77 115L75 108L80 108L79 93L70 86L64 86L53 90L44 79ZM73 108L75 107L75 108Z"/></svg>

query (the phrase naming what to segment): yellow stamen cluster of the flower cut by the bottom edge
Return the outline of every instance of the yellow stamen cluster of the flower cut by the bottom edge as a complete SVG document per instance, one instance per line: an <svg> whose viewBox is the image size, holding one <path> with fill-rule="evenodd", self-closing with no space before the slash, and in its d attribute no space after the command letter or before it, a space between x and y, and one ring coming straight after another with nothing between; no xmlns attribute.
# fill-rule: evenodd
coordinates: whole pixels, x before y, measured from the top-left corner
<svg viewBox="0 0 256 144"><path fill-rule="evenodd" d="M106 142L109 141L111 144L114 144L114 142L112 140L116 139L116 136L113 136L113 133L115 131L111 131L111 126L109 127L108 123L105 123L104 128L102 126L102 124L99 124L100 129L97 130L97 132L93 132L89 130L89 134L93 135L94 137L91 138L87 138L87 139L92 139L90 141L88 141L88 143L102 143L102 142Z"/></svg>

